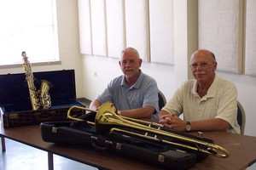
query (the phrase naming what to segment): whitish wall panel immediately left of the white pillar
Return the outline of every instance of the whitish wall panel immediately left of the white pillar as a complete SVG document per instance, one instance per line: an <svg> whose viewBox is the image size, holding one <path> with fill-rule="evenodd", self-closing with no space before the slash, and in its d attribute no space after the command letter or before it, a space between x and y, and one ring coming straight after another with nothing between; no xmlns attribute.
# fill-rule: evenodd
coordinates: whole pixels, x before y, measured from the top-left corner
<svg viewBox="0 0 256 170"><path fill-rule="evenodd" d="M173 1L149 1L151 62L174 64Z"/></svg>

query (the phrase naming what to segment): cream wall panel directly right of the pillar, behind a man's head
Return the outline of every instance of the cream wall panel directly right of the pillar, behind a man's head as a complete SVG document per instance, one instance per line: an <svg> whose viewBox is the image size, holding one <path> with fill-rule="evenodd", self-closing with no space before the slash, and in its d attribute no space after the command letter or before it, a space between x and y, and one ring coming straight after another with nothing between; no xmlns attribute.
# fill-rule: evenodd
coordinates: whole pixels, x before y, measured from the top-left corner
<svg viewBox="0 0 256 170"><path fill-rule="evenodd" d="M242 71L242 2L199 0L199 48L216 55L218 71Z"/></svg>

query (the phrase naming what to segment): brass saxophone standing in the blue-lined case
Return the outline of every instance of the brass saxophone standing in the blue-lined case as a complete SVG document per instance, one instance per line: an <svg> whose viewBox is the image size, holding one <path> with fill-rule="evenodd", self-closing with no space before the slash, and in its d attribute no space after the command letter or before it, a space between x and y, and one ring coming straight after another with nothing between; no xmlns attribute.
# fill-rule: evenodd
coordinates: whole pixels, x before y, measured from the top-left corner
<svg viewBox="0 0 256 170"><path fill-rule="evenodd" d="M30 100L32 104L32 110L48 109L51 106L51 99L49 95L49 88L53 85L47 80L41 80L41 88L37 91L34 85L34 77L31 69L31 65L26 57L26 52L22 52L23 67L26 75L26 82L28 85L28 91L30 94Z"/></svg>

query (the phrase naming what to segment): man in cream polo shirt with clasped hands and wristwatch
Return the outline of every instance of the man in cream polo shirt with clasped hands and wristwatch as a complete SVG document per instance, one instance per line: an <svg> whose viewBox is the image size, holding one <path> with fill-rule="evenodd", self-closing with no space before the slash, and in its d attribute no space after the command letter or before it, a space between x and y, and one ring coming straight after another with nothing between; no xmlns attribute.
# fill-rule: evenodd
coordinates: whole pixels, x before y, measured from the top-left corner
<svg viewBox="0 0 256 170"><path fill-rule="evenodd" d="M159 113L159 122L177 131L241 133L236 120L237 90L215 74L212 52L199 49L190 59L194 80L184 82ZM183 120L178 116L183 114Z"/></svg>

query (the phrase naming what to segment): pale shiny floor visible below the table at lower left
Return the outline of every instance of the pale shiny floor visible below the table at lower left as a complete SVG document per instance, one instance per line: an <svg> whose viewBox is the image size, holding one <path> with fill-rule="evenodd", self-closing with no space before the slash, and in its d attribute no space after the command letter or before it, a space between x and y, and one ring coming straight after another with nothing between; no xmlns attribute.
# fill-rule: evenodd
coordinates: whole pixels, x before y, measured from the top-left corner
<svg viewBox="0 0 256 170"><path fill-rule="evenodd" d="M48 169L48 156L47 152L38 150L15 142L14 140L5 139L6 151L0 155L0 169L1 170L47 170ZM0 142L0 149L1 142ZM96 170L95 167L90 167L72 161L67 158L54 155L54 169L55 170Z"/></svg>

